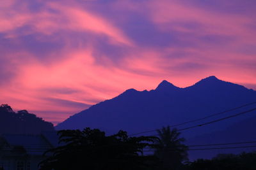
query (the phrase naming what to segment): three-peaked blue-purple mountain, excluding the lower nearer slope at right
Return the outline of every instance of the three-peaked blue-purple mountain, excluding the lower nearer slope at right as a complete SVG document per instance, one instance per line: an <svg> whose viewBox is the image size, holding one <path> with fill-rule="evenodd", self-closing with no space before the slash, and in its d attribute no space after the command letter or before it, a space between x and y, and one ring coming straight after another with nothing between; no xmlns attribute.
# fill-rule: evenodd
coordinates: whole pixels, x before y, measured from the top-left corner
<svg viewBox="0 0 256 170"><path fill-rule="evenodd" d="M113 99L95 104L87 110L73 115L55 128L60 130L92 127L109 134L122 129L132 134L206 117L252 101L256 101L255 90L219 80L215 76L204 78L186 88L175 87L172 83L164 80L155 90L126 90ZM246 109L250 109L250 106L223 115L232 115ZM187 138L192 138L205 132L221 130L241 119L253 117L253 113L255 114L255 111L216 124L205 125L204 128L184 131L182 134ZM209 120L223 117L223 115L212 117ZM195 123L200 122L193 124ZM184 125L184 127L187 126L189 124Z"/></svg>

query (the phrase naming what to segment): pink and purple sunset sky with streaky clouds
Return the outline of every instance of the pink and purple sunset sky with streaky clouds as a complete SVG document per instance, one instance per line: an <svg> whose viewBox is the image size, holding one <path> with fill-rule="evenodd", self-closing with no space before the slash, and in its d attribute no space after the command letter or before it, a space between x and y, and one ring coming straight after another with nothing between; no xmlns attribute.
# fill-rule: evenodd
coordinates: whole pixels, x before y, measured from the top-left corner
<svg viewBox="0 0 256 170"><path fill-rule="evenodd" d="M1 0L0 103L54 124L126 89L256 90L255 0Z"/></svg>

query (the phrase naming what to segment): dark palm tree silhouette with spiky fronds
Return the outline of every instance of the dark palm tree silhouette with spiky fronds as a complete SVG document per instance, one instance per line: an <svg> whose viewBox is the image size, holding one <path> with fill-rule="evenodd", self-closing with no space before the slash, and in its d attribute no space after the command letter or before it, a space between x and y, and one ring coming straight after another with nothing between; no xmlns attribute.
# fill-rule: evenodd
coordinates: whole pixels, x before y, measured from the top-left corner
<svg viewBox="0 0 256 170"><path fill-rule="evenodd" d="M188 160L188 146L182 144L184 138L179 138L177 129L170 126L157 130L159 140L155 155L161 161L161 169L179 169L184 160Z"/></svg>

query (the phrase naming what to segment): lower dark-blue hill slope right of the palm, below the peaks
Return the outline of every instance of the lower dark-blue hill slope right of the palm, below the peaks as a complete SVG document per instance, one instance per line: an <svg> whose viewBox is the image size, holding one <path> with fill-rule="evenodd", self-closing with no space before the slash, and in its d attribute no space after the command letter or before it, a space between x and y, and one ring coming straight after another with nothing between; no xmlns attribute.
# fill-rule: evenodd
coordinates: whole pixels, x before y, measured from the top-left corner
<svg viewBox="0 0 256 170"><path fill-rule="evenodd" d="M223 144L223 143L237 143L234 145L216 145L216 146L200 146L191 147L191 149L202 149L202 148L225 148L220 150L201 150L189 152L191 160L204 158L211 159L219 153L234 153L239 154L241 152L252 152L256 150L255 143L244 143L250 141L256 141L256 117L246 118L240 122L234 123L221 131L215 131L210 133L201 134L194 138L189 138L186 143L188 145L212 145L212 144ZM240 144L238 144L240 143ZM244 146L255 146L246 148ZM228 147L228 148L227 148ZM231 147L231 148L230 148ZM241 147L241 148L232 148ZM243 148L244 147L244 148Z"/></svg>

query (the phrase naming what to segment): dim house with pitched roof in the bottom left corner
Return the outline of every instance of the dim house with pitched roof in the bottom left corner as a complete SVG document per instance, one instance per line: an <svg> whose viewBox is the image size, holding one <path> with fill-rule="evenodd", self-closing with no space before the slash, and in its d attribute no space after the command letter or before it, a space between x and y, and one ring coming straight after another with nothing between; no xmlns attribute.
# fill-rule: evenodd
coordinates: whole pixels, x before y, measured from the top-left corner
<svg viewBox="0 0 256 170"><path fill-rule="evenodd" d="M56 132L0 135L0 169L37 170L39 162L49 156L44 155L44 152L56 146Z"/></svg>

